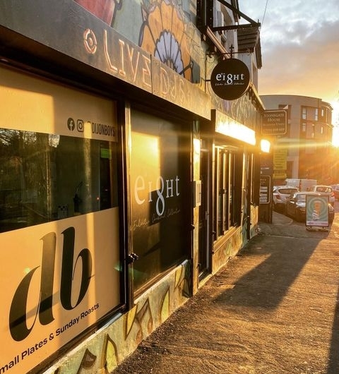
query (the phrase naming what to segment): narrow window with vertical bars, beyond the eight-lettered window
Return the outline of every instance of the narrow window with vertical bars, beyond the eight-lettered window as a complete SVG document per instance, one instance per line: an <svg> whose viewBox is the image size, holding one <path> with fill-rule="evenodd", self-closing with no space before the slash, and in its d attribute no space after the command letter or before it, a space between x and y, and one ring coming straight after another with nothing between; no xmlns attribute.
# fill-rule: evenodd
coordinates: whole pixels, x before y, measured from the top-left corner
<svg viewBox="0 0 339 374"><path fill-rule="evenodd" d="M215 240L239 222L237 198L237 153L225 147L215 147L214 155L214 232Z"/></svg>

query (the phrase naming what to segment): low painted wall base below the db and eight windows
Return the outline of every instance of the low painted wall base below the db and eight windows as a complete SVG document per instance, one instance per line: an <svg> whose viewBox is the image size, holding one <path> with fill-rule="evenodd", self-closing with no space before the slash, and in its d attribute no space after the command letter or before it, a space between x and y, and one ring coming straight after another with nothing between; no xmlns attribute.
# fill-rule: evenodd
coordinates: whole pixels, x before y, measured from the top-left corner
<svg viewBox="0 0 339 374"><path fill-rule="evenodd" d="M110 373L191 296L185 261L152 286L129 312L117 316L61 358L44 374Z"/></svg>

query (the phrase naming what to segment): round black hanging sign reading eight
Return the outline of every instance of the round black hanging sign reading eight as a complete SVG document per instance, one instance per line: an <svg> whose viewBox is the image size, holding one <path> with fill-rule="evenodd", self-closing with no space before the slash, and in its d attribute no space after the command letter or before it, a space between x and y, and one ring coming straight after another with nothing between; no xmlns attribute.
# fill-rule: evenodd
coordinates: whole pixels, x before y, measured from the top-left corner
<svg viewBox="0 0 339 374"><path fill-rule="evenodd" d="M249 88L249 68L238 59L222 60L213 68L210 85L222 99L238 99Z"/></svg>

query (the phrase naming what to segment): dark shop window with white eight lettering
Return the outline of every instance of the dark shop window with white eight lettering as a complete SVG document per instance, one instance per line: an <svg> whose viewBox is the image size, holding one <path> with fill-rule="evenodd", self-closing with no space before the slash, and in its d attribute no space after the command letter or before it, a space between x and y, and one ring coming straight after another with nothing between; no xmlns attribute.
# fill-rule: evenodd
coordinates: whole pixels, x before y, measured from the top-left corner
<svg viewBox="0 0 339 374"><path fill-rule="evenodd" d="M131 113L131 228L135 291L186 258L189 238L189 131Z"/></svg>

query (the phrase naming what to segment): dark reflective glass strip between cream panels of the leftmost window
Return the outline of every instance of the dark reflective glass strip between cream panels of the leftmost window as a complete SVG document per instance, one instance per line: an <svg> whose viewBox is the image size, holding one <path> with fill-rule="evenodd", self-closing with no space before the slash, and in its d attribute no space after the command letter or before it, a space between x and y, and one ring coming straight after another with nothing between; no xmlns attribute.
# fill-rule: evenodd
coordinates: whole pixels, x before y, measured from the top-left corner
<svg viewBox="0 0 339 374"><path fill-rule="evenodd" d="M117 206L116 144L0 128L0 232Z"/></svg>

